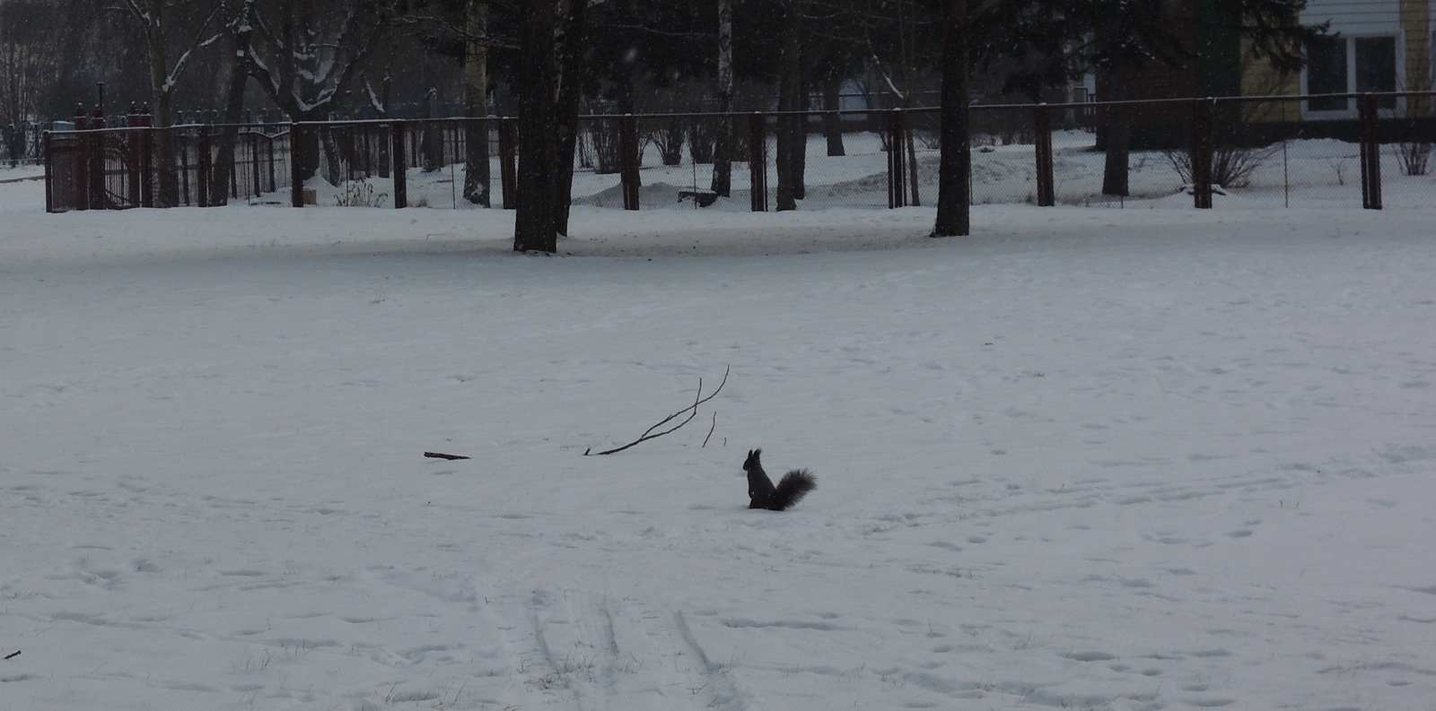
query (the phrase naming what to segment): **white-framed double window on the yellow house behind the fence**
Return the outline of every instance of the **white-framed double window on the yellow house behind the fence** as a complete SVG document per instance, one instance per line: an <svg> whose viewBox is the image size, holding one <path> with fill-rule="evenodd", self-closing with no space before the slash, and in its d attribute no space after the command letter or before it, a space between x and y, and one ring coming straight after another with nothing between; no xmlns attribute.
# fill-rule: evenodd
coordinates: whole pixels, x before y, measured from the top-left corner
<svg viewBox="0 0 1436 711"><path fill-rule="evenodd" d="M1321 37L1307 43L1308 95L1397 90L1396 37ZM1377 99L1377 108L1394 109L1396 97ZM1344 96L1308 99L1311 112L1350 112Z"/></svg>

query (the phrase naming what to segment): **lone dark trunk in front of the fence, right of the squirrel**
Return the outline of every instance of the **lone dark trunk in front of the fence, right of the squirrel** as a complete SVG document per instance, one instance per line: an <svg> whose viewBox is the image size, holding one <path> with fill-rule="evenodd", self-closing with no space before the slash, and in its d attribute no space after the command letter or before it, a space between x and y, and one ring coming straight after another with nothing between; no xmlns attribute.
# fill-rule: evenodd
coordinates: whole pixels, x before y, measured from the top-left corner
<svg viewBox="0 0 1436 711"><path fill-rule="evenodd" d="M972 153L968 143L968 1L942 4L942 153L938 171L938 221L932 237L971 231ZM896 146L895 146L896 148Z"/></svg>

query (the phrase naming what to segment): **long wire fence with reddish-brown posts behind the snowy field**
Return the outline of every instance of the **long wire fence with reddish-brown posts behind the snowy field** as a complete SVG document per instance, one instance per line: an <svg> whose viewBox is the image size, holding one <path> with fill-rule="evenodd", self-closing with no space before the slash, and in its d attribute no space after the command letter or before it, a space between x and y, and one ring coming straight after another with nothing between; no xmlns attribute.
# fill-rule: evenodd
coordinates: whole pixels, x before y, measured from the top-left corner
<svg viewBox="0 0 1436 711"><path fill-rule="evenodd" d="M972 106L971 201L1429 206L1433 109L1430 92ZM45 135L50 209L517 201L511 119L125 122ZM938 128L936 109L583 116L572 196L613 209L931 206Z"/></svg>

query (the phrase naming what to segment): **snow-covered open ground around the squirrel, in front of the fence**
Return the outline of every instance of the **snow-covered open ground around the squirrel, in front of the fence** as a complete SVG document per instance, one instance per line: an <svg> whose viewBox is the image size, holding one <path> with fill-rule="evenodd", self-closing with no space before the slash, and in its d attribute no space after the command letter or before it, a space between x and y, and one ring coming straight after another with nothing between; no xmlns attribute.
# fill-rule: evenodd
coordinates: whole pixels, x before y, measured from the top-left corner
<svg viewBox="0 0 1436 711"><path fill-rule="evenodd" d="M1436 208L1225 208L0 183L0 710L1430 711Z"/></svg>

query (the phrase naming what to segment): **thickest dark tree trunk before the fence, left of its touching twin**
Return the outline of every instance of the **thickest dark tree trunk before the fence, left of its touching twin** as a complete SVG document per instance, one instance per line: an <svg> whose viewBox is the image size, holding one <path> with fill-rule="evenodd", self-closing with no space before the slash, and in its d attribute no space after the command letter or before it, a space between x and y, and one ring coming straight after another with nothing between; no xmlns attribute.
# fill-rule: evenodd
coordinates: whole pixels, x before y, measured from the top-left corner
<svg viewBox="0 0 1436 711"><path fill-rule="evenodd" d="M524 0L518 9L518 195L516 252L559 251L559 106L554 76L554 0Z"/></svg>

